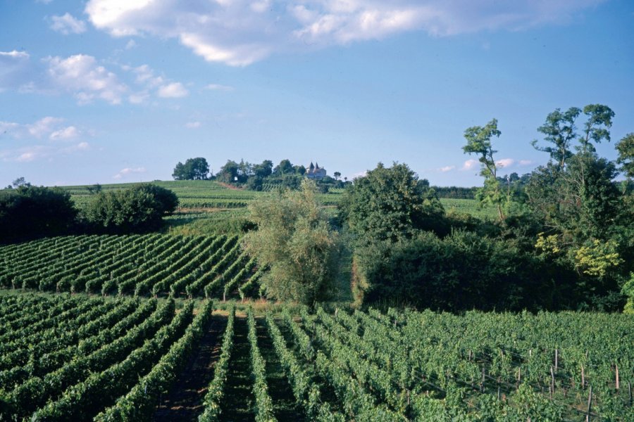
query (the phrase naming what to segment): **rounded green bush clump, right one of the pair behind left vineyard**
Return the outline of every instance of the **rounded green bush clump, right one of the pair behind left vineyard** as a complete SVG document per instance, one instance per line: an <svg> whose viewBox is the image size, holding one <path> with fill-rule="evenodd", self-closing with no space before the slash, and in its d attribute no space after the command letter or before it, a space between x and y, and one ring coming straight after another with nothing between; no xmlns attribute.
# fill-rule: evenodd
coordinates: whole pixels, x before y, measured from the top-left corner
<svg viewBox="0 0 634 422"><path fill-rule="evenodd" d="M173 212L178 198L172 191L150 184L121 191L101 192L92 200L84 216L97 231L131 233L157 229L163 215Z"/></svg>

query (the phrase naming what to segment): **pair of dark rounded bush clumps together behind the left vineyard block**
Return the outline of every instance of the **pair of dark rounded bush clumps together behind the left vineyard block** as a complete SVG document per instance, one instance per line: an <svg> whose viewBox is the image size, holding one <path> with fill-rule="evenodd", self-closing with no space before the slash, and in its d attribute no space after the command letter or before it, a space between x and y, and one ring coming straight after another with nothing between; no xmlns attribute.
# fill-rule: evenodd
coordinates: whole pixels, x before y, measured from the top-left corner
<svg viewBox="0 0 634 422"><path fill-rule="evenodd" d="M60 188L18 184L0 191L0 242L61 234L126 234L159 228L178 206L172 191L141 184L96 192L84 210Z"/></svg>

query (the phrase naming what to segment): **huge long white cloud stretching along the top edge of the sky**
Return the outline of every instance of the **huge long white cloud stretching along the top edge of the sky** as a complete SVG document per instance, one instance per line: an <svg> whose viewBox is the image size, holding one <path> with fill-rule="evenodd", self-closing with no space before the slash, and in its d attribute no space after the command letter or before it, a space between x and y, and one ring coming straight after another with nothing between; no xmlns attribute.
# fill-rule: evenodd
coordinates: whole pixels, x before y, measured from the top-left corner
<svg viewBox="0 0 634 422"><path fill-rule="evenodd" d="M89 0L85 13L115 37L178 39L211 62L242 66L278 51L383 39L406 31L447 37L570 20L604 0Z"/></svg>

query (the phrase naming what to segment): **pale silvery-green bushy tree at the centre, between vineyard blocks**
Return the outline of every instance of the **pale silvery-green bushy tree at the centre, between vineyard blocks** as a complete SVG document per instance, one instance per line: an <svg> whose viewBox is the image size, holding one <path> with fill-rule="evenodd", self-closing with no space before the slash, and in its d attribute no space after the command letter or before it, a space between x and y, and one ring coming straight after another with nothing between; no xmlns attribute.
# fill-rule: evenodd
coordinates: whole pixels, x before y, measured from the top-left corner
<svg viewBox="0 0 634 422"><path fill-rule="evenodd" d="M249 204L258 229L244 239L249 255L270 267L264 284L269 297L314 305L332 290L339 237L317 203L315 186L275 191Z"/></svg>

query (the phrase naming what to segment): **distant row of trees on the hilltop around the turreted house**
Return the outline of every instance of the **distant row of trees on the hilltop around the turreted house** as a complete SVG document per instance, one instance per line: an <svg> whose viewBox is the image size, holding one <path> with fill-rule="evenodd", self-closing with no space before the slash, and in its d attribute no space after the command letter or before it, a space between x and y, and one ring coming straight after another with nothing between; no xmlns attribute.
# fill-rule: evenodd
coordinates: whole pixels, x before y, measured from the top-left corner
<svg viewBox="0 0 634 422"><path fill-rule="evenodd" d="M178 162L172 173L175 180L217 180L226 184L242 186L250 191L263 191L274 186L297 190L302 185L306 174L306 167L294 165L290 160L281 160L276 166L271 160L263 160L259 164L248 161L227 160L220 170L213 174L209 170L209 163L205 158L189 158L183 164ZM341 173L334 172L334 177L325 176L316 180L317 187L322 192L330 188L344 188L349 182L347 178L340 180Z"/></svg>

